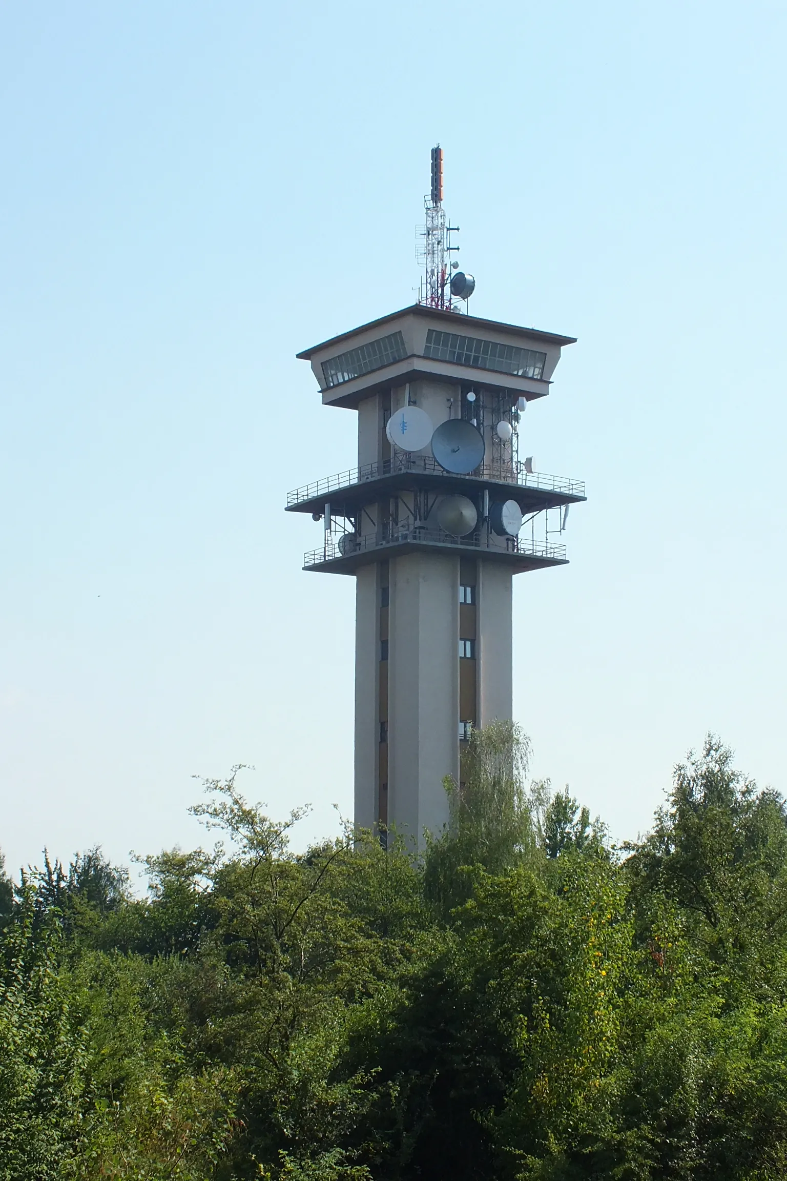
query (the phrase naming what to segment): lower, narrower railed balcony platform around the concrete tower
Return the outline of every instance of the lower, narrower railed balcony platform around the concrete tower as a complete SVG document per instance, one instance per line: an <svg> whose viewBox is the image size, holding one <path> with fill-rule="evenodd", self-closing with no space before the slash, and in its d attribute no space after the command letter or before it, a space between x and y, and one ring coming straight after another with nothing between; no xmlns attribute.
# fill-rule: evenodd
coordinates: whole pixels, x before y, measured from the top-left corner
<svg viewBox="0 0 787 1181"><path fill-rule="evenodd" d="M486 529L466 534L464 537L454 537L442 529L409 527L393 528L385 537L378 537L375 534L363 534L359 537L345 533L336 541L333 537L326 539L320 549L310 549L303 555L303 569L326 574L354 574L359 566L366 566L368 562L424 552L476 553L488 561L504 562L513 574L539 570L546 566L565 566L568 562L565 546L556 546L549 541L522 537L504 540L487 533Z"/></svg>

